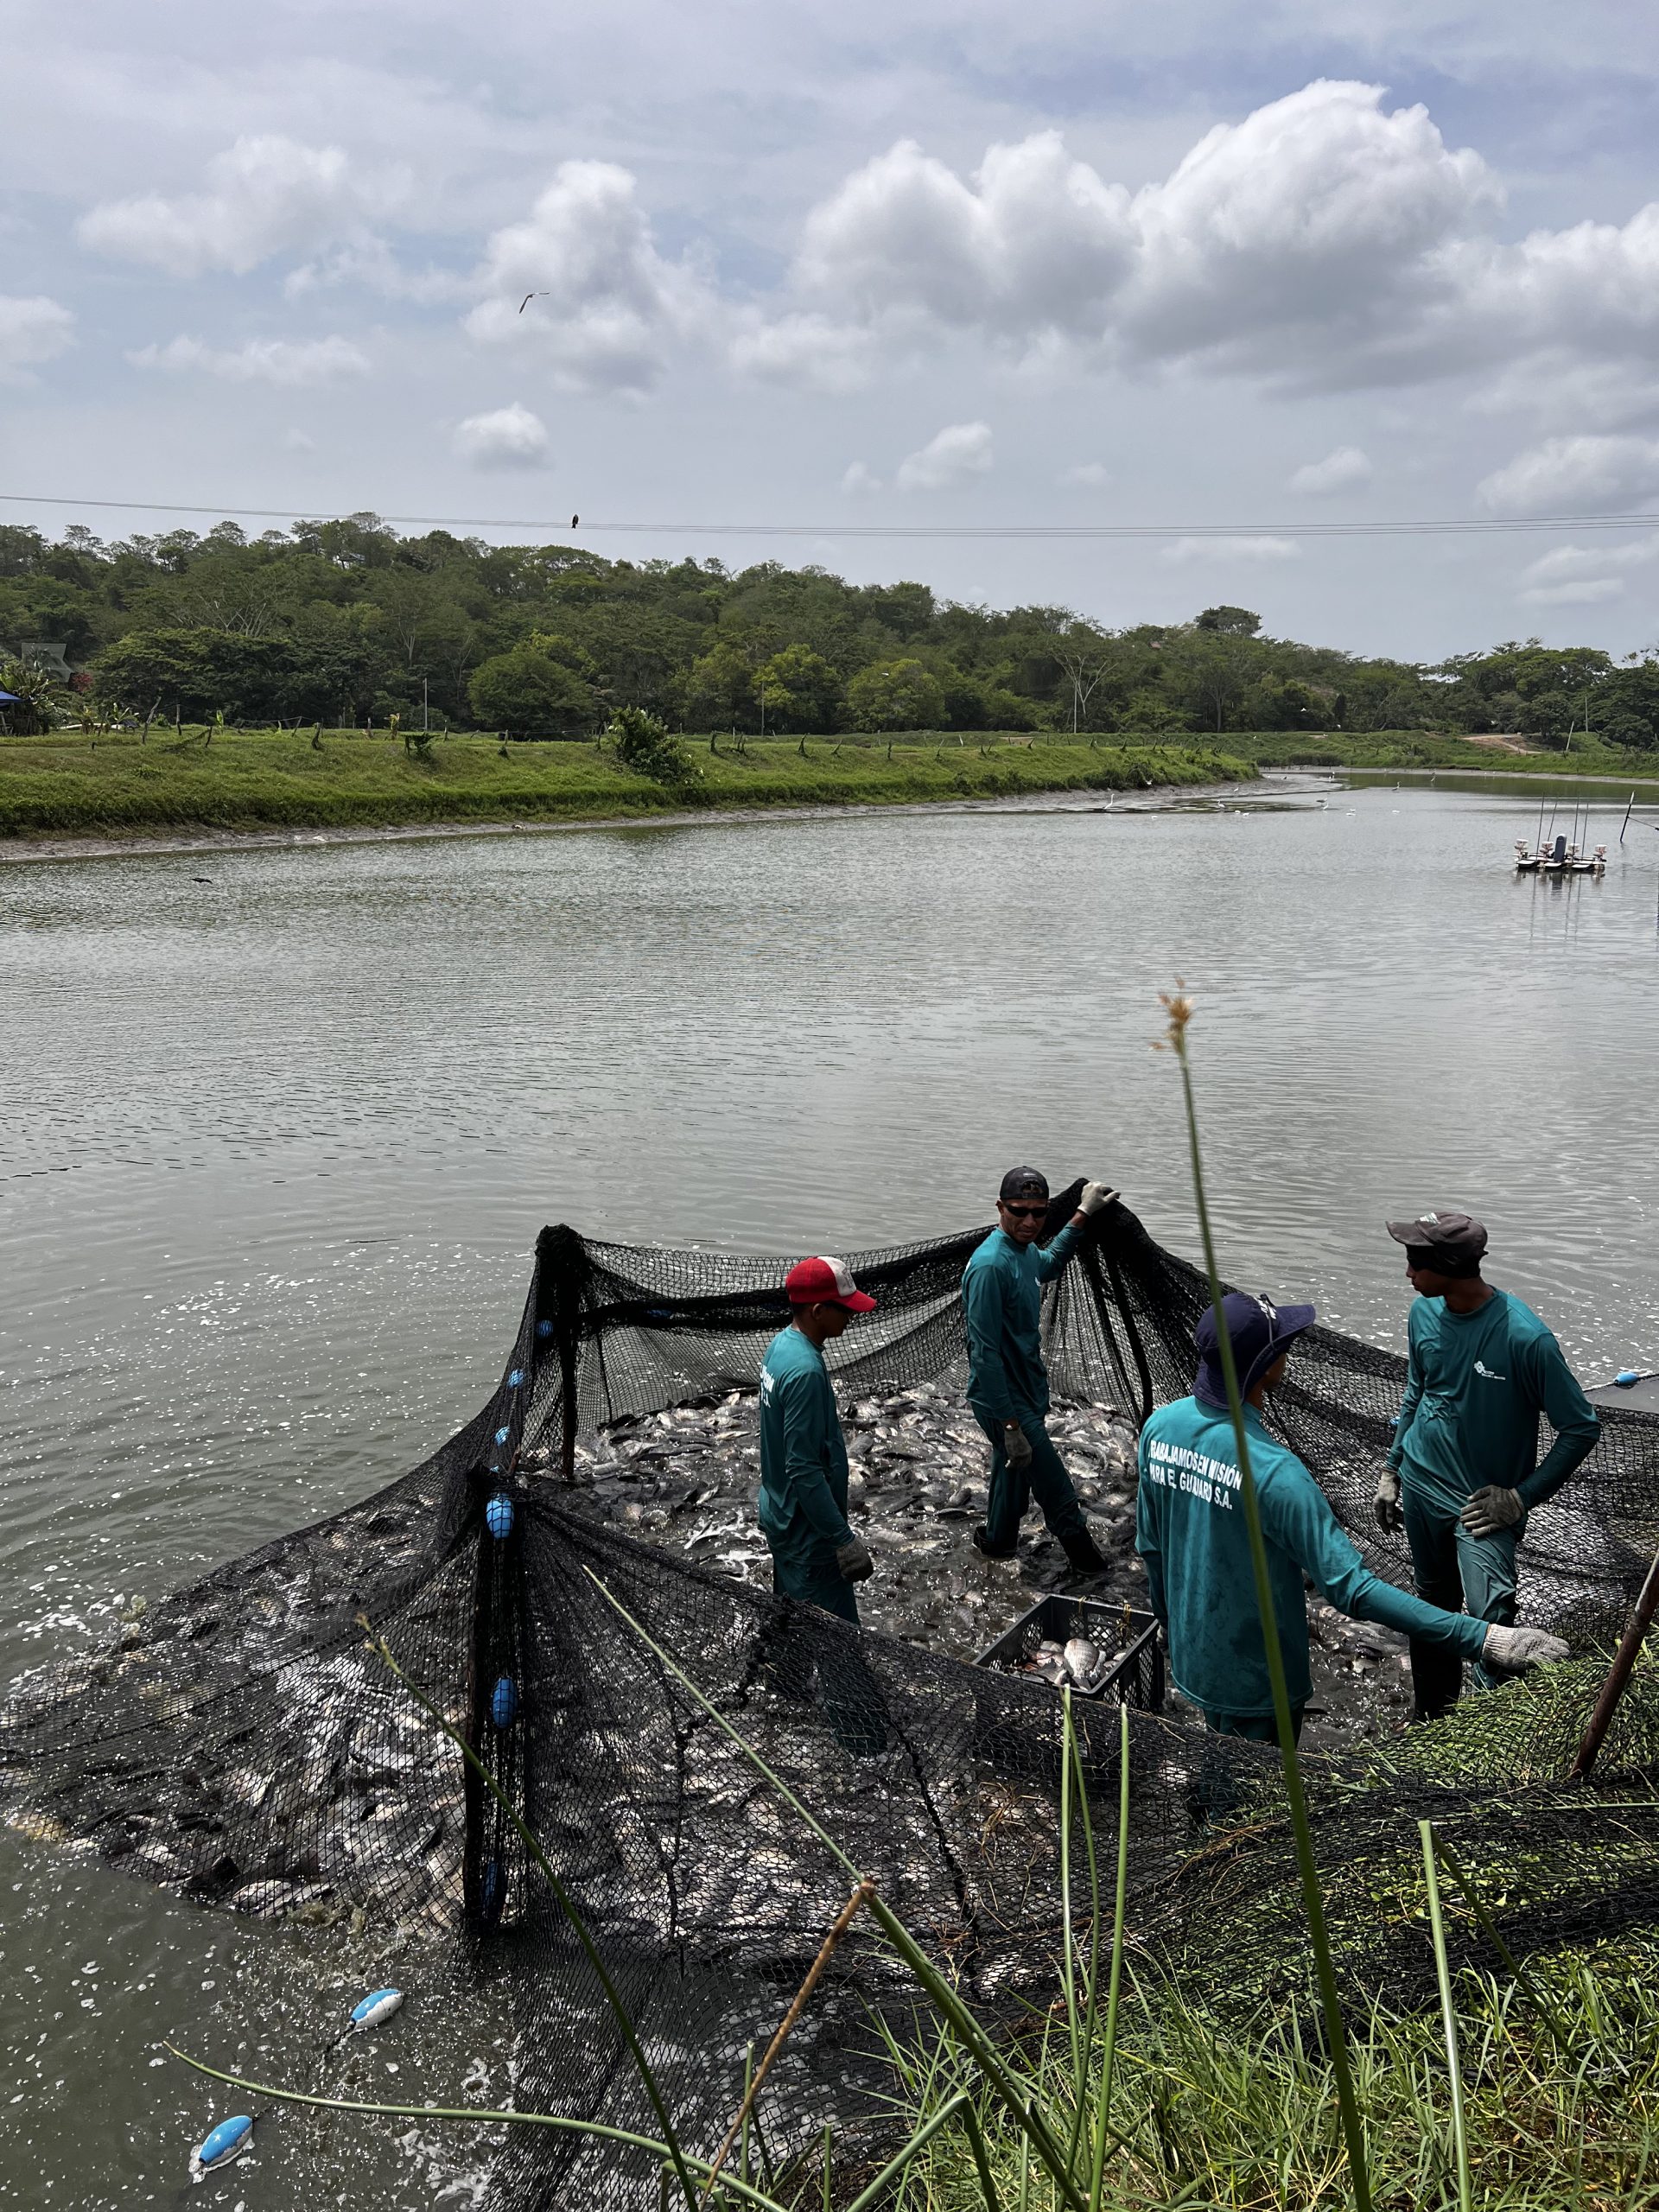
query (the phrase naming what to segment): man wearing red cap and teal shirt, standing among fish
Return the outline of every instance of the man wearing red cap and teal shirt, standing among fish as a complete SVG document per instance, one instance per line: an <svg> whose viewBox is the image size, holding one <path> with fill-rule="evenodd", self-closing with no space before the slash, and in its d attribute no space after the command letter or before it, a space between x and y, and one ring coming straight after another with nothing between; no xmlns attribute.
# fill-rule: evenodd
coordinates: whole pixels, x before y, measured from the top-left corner
<svg viewBox="0 0 1659 2212"><path fill-rule="evenodd" d="M761 1531L772 1553L772 1588L858 1626L854 1582L876 1573L847 1526L847 1442L823 1347L876 1301L838 1259L803 1259L783 1290L794 1321L779 1329L761 1367Z"/></svg>

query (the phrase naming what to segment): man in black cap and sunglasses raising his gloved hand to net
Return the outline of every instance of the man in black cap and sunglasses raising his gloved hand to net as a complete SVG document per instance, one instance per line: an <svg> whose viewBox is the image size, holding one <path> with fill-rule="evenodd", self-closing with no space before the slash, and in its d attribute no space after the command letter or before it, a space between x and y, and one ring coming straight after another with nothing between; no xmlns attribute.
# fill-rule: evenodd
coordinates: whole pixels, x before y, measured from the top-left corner
<svg viewBox="0 0 1659 2212"><path fill-rule="evenodd" d="M969 1405L991 1438L991 1500L973 1542L987 1559L1011 1559L1031 1498L1079 1575L1106 1568L1088 1533L1077 1491L1048 1440L1048 1369L1042 1360L1042 1285L1077 1245L1077 1230L1115 1192L1084 1183L1077 1212L1046 1245L1048 1183L1035 1168L1009 1168L998 1197L998 1228L962 1272L969 1343Z"/></svg>

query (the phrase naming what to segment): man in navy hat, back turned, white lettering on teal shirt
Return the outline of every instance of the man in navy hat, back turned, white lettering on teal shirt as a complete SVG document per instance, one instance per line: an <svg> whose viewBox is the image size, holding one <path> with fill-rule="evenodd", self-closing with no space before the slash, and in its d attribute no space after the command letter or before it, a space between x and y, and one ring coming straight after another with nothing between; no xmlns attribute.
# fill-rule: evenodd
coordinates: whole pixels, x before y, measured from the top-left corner
<svg viewBox="0 0 1659 2212"><path fill-rule="evenodd" d="M1540 1628L1491 1626L1396 1590L1374 1575L1340 1528L1303 1462L1270 1436L1261 1405L1312 1327L1312 1305L1274 1307L1230 1292L1221 1301L1239 1391L1245 1400L1250 1471L1267 1544L1267 1582L1285 1655L1292 1725L1301 1734L1312 1690L1307 1601L1312 1579L1338 1613L1380 1621L1458 1657L1520 1670L1564 1659L1566 1644ZM1170 1674L1219 1734L1276 1741L1267 1646L1261 1635L1239 1447L1228 1413L1214 1312L1197 1329L1199 1376L1190 1398L1159 1407L1141 1429L1135 1548L1146 1562L1152 1613L1164 1624Z"/></svg>

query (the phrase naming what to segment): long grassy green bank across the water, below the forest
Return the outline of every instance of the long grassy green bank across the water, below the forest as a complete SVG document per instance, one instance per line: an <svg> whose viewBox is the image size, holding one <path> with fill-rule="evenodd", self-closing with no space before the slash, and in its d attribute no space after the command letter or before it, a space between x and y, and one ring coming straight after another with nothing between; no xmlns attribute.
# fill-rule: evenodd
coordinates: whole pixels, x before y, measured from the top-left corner
<svg viewBox="0 0 1659 2212"><path fill-rule="evenodd" d="M347 830L575 821L686 807L891 805L1020 792L1139 790L1254 774L1203 745L692 739L697 781L648 783L602 745L436 737L425 754L380 734L161 730L0 741L0 836L137 836L164 830Z"/></svg>

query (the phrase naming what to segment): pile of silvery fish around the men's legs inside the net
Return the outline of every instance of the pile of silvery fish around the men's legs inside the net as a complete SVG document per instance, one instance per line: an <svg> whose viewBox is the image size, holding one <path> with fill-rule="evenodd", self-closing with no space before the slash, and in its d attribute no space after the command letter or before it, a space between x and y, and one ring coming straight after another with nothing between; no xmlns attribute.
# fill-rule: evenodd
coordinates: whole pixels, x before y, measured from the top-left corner
<svg viewBox="0 0 1659 2212"><path fill-rule="evenodd" d="M1071 1573L1035 1509L1018 1557L987 1559L973 1548L971 1531L984 1520L989 1444L962 1400L960 1378L878 1385L845 1398L841 1420L849 1517L876 1559L874 1579L858 1586L867 1628L971 1661L1048 1590L1146 1608L1146 1571L1135 1557L1137 1431L1119 1407L1057 1402L1048 1416L1048 1433L1106 1559L1106 1573L1086 1582ZM544 1464L551 1458L544 1453ZM770 1588L772 1562L754 1515L759 1469L759 1400L752 1389L730 1389L717 1400L628 1416L584 1438L575 1502L664 1551ZM1409 1717L1400 1637L1347 1621L1314 1599L1310 1641L1314 1699L1305 1743L1336 1747ZM1057 1679L1053 1655L1042 1661L1035 1672ZM1168 1710L1181 1714L1177 1692Z"/></svg>

